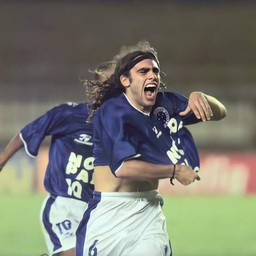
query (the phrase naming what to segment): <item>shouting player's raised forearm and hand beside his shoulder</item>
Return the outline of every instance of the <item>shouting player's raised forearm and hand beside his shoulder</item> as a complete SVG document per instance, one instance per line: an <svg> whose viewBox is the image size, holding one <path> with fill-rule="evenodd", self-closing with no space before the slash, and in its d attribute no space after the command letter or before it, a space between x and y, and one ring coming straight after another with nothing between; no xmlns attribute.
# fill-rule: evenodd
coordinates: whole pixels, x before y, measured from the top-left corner
<svg viewBox="0 0 256 256"><path fill-rule="evenodd" d="M200 91L193 91L189 95L187 108L180 112L180 116L186 116L193 111L198 119L205 121L218 121L223 119L227 112L225 106L216 98L206 95Z"/></svg>

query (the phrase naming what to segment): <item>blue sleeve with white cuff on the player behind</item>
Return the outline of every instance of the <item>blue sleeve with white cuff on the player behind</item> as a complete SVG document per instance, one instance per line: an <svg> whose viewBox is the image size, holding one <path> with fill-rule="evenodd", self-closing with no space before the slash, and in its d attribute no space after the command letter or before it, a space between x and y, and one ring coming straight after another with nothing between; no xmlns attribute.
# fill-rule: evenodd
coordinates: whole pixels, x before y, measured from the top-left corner
<svg viewBox="0 0 256 256"><path fill-rule="evenodd" d="M20 139L29 156L37 156L39 147L47 135L69 133L67 116L70 115L71 108L73 107L68 104L61 104L30 122L20 131Z"/></svg>

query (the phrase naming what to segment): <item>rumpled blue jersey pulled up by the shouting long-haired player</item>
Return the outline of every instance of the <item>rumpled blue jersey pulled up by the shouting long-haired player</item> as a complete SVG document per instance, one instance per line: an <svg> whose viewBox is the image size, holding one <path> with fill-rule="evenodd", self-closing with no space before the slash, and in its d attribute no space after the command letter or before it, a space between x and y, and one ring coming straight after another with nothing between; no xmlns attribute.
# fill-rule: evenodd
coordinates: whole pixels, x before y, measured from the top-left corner
<svg viewBox="0 0 256 256"><path fill-rule="evenodd" d="M174 100L175 99L175 100ZM138 158L153 164L186 164L199 169L195 142L183 124L199 120L179 116L188 99L159 92L149 115L136 109L125 94L105 102L93 118L94 165L109 165L113 174L123 161Z"/></svg>

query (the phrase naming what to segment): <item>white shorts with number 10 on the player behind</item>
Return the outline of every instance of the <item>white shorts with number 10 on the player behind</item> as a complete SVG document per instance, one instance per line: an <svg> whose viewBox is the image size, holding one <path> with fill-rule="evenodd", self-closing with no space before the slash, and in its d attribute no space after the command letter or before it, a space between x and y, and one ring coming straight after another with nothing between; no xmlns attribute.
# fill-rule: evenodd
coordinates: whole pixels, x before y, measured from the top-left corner
<svg viewBox="0 0 256 256"><path fill-rule="evenodd" d="M88 203L73 198L48 196L40 213L40 222L49 255L75 247L75 232Z"/></svg>

